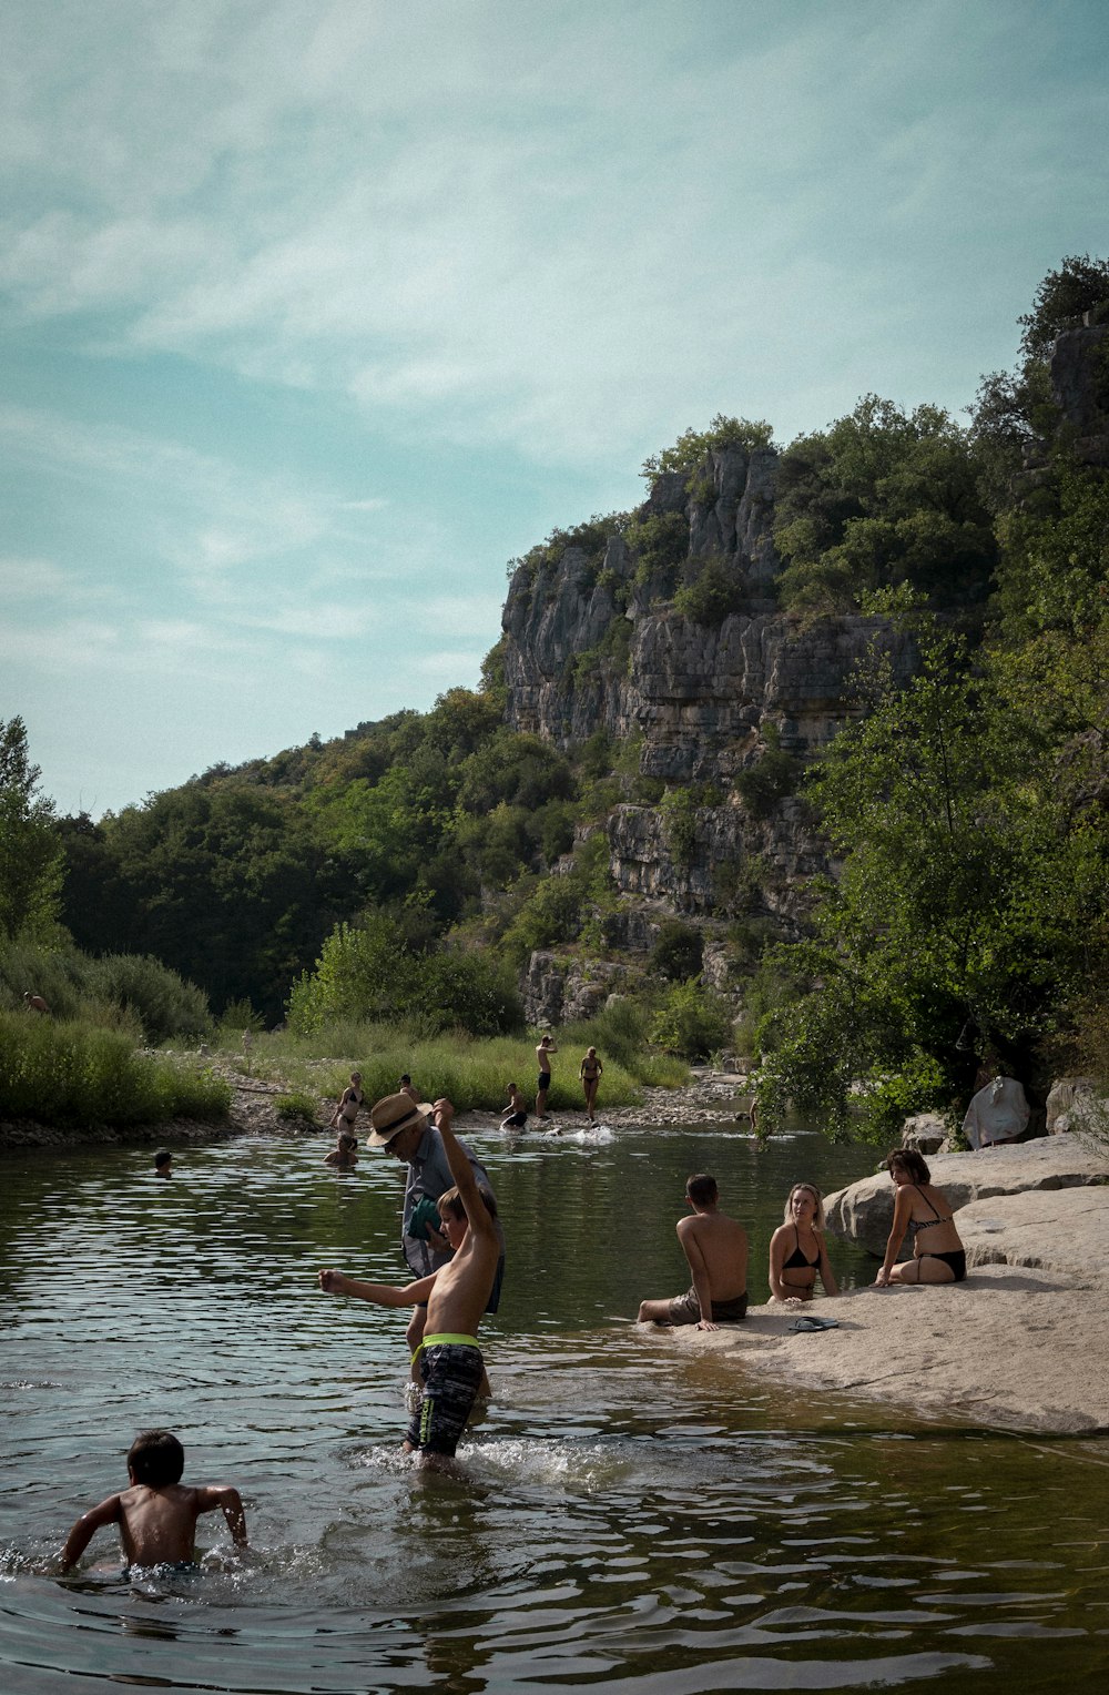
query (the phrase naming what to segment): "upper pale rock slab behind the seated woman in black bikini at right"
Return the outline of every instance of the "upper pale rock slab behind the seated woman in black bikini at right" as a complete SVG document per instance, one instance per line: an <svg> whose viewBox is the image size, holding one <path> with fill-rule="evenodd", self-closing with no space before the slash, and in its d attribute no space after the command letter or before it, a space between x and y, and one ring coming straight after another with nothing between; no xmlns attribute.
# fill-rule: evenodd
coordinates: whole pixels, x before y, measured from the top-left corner
<svg viewBox="0 0 1109 1695"><path fill-rule="evenodd" d="M984 1148L972 1154L934 1154L928 1161L933 1183L955 1212L1002 1195L1067 1190L1109 1183L1109 1144L1094 1136L1043 1136L1012 1148ZM875 1254L885 1251L894 1222L894 1185L887 1171L836 1190L824 1202L828 1227ZM958 1219L960 1234L963 1220Z"/></svg>

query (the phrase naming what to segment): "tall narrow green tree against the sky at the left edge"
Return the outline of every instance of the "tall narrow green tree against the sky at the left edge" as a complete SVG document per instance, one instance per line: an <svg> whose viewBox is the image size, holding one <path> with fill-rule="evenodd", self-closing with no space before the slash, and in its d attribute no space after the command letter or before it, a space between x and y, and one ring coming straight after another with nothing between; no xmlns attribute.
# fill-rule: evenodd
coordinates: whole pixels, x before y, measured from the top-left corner
<svg viewBox="0 0 1109 1695"><path fill-rule="evenodd" d="M58 920L63 853L54 803L39 795L41 770L27 756L27 729L0 719L0 936L29 941Z"/></svg>

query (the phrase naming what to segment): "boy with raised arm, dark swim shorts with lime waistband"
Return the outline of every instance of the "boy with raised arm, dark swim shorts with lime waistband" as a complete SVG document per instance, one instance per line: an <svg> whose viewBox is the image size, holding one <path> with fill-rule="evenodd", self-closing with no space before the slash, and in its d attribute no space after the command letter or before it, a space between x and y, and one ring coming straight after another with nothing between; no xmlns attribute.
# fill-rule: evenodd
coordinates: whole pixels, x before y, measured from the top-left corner
<svg viewBox="0 0 1109 1695"><path fill-rule="evenodd" d="M343 1271L320 1271L319 1287L327 1295L353 1295L378 1307L410 1307L427 1302L427 1327L412 1356L419 1373L421 1400L409 1424L405 1453L419 1453L431 1464L451 1459L478 1395L485 1363L478 1348L478 1324L485 1312L500 1239L490 1200L460 1148L449 1100L436 1102L436 1122L454 1178L454 1188L439 1197L443 1234L454 1258L431 1276L393 1288L390 1283L361 1283Z"/></svg>

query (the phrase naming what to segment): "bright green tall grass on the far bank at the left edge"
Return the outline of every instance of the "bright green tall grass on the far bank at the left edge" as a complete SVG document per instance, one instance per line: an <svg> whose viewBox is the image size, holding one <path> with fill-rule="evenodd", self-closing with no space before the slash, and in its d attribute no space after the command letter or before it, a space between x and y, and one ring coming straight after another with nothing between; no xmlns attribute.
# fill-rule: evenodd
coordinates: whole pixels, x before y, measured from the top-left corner
<svg viewBox="0 0 1109 1695"><path fill-rule="evenodd" d="M0 1117L37 1124L159 1124L227 1115L222 1078L146 1054L80 1019L0 1012Z"/></svg>

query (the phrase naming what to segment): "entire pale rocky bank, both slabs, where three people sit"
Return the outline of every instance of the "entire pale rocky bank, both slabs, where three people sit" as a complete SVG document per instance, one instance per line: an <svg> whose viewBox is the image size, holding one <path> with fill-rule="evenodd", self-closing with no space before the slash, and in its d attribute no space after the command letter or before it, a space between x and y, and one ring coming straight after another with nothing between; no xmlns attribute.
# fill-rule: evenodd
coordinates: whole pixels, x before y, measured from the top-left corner
<svg viewBox="0 0 1109 1695"><path fill-rule="evenodd" d="M675 1344L736 1353L744 1373L807 1393L945 1422L1109 1432L1109 1146L1055 1136L938 1156L931 1170L956 1209L965 1283L856 1288L805 1309L836 1319L833 1331L792 1331L797 1312L772 1302L727 1331L678 1331ZM865 1178L829 1200L829 1219L853 1219L856 1239L875 1246L889 1193L887 1180Z"/></svg>

